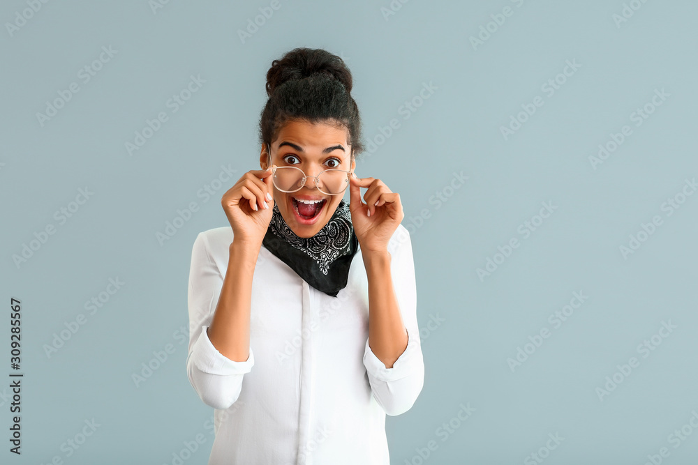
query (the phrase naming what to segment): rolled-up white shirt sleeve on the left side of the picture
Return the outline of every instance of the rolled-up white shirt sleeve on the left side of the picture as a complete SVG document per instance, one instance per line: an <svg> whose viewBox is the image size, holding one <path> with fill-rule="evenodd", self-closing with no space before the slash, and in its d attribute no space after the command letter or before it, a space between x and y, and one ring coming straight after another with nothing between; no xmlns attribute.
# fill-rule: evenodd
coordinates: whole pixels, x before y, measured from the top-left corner
<svg viewBox="0 0 698 465"><path fill-rule="evenodd" d="M207 329L222 287L223 275L211 259L206 236L200 233L194 241L189 270L186 372L200 399L214 409L228 409L235 403L242 390L244 374L254 365L251 348L246 361L235 362L223 356L209 340Z"/></svg>

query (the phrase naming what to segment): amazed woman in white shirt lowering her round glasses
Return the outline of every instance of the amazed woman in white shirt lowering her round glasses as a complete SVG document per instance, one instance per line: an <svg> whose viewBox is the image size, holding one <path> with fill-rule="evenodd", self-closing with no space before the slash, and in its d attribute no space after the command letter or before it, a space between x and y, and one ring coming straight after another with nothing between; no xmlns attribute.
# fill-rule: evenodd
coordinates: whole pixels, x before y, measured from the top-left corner
<svg viewBox="0 0 698 465"><path fill-rule="evenodd" d="M354 174L351 88L325 50L273 61L262 169L194 242L186 369L216 409L209 465L388 465L385 415L422 391L412 245L399 195Z"/></svg>

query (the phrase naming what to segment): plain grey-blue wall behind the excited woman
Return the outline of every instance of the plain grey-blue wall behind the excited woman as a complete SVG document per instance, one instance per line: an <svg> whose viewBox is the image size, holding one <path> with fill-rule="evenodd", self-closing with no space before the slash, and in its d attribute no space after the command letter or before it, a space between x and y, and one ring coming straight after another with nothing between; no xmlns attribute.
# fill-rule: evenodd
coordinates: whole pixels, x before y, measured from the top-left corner
<svg viewBox="0 0 698 465"><path fill-rule="evenodd" d="M663 447L665 463L695 463L698 197L680 194L698 172L697 4L415 0L393 1L385 15L390 4L280 0L243 43L237 31L270 2L49 1L10 31L29 6L3 1L0 346L9 374L7 311L19 298L24 379L22 456L8 452L4 429L1 462L171 464L197 434L205 442L184 463L207 462L212 409L186 379L177 333L188 326L191 247L198 232L227 224L221 195L259 169L272 60L318 47L346 59L366 142L380 142L357 175L400 193L412 233L426 380L413 409L387 418L392 463L535 463L530 454L556 433L564 439L546 463L643 464ZM624 5L633 14L617 23ZM84 83L78 73L103 46L117 53ZM579 69L548 96L542 85L567 60ZM191 75L205 83L172 113L168 99ZM41 125L36 114L72 82L80 91ZM405 119L401 106L430 82L436 91ZM669 97L638 127L631 114L655 89ZM500 127L536 96L544 105L505 139ZM168 121L129 155L126 142L158 112ZM392 119L399 128L381 139ZM623 125L632 135L594 169L589 157ZM222 165L237 176L205 201L198 192ZM454 172L468 180L449 190ZM60 224L54 212L86 187L94 195ZM440 208L437 192L450 196ZM676 195L683 204L669 215L662 205ZM546 201L557 208L524 238L519 226ZM158 242L191 202L198 211ZM623 257L619 247L655 215L662 224ZM50 224L55 234L15 265ZM519 247L481 279L477 268L511 238ZM123 287L89 314L84 303L117 277ZM549 315L574 291L588 299L554 328ZM47 356L45 344L81 313L87 321ZM637 346L662 321L676 328L643 358ZM507 359L542 328L550 336L512 371ZM174 353L135 386L133 373L166 344ZM600 399L597 388L631 357L639 366ZM8 388L0 392L9 427ZM475 411L452 420L461 404ZM98 428L68 456L61 444L93 418ZM450 421L452 433L439 434ZM682 427L692 434L676 448Z"/></svg>

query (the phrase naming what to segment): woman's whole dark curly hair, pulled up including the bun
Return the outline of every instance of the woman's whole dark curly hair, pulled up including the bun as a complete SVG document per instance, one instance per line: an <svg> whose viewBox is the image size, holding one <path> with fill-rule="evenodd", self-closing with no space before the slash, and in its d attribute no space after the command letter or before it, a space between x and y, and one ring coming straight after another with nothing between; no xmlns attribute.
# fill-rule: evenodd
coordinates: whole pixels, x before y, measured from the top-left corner
<svg viewBox="0 0 698 465"><path fill-rule="evenodd" d="M359 107L350 95L352 77L339 56L295 48L267 71L267 105L260 116L260 144L272 144L288 121L329 123L348 130L352 155L364 151Z"/></svg>

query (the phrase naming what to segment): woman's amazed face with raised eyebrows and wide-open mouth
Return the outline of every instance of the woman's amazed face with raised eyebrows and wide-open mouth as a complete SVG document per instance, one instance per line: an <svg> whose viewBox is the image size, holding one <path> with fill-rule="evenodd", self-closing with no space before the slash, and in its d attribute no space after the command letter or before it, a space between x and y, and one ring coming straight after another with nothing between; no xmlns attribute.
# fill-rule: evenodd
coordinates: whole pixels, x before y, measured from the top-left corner
<svg viewBox="0 0 698 465"><path fill-rule="evenodd" d="M272 142L272 163L277 167L297 167L306 176L318 176L321 171L338 168L354 171L356 162L351 160L351 147L347 144L347 130L327 123L289 121ZM267 147L262 147L260 165L266 169L269 163ZM348 188L347 188L348 189ZM308 178L296 192L281 192L274 186L274 201L279 206L283 220L296 236L308 238L318 234L332 218L343 199L340 195L327 195L315 186L315 178ZM297 209L296 199L321 199L322 207L313 218L306 219Z"/></svg>

